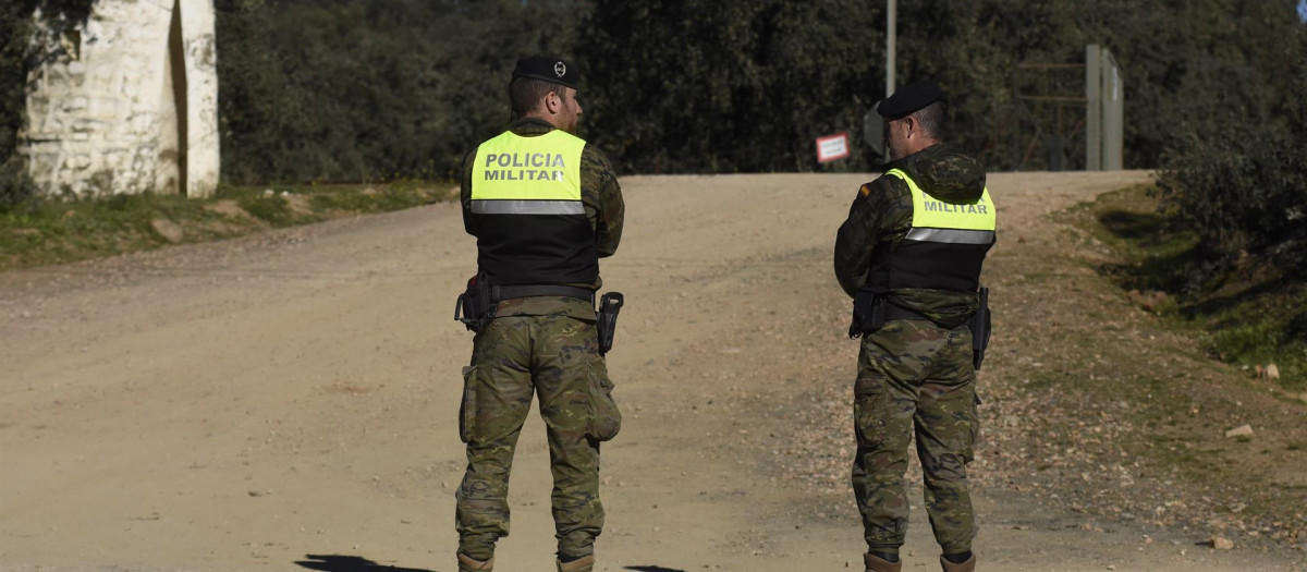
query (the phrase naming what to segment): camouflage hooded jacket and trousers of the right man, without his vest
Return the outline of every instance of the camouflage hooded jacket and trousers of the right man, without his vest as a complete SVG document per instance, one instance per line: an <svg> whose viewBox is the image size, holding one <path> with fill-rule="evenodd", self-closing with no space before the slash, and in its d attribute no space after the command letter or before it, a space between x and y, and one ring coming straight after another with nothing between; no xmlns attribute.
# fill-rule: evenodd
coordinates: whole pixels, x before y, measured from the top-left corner
<svg viewBox="0 0 1307 572"><path fill-rule="evenodd" d="M944 201L980 196L984 168L948 144L936 144L885 166L911 175ZM835 276L852 296L868 279L873 252L893 248L912 226L907 184L881 176L861 187L835 240ZM929 320L890 320L863 337L853 418L857 457L853 494L872 552L898 554L907 534L903 474L914 430L925 481L925 508L944 554L971 550L975 516L966 465L976 439L975 371L967 320L975 293L897 289L893 304Z"/></svg>

